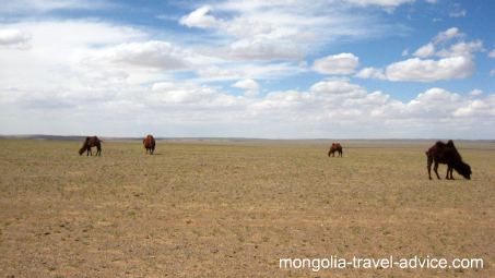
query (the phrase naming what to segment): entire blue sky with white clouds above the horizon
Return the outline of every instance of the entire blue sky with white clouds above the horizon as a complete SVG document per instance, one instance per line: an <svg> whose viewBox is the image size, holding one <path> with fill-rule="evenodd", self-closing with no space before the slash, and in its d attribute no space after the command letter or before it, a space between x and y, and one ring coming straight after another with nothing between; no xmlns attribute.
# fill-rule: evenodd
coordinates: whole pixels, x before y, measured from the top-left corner
<svg viewBox="0 0 495 278"><path fill-rule="evenodd" d="M493 11L3 0L0 134L495 138Z"/></svg>

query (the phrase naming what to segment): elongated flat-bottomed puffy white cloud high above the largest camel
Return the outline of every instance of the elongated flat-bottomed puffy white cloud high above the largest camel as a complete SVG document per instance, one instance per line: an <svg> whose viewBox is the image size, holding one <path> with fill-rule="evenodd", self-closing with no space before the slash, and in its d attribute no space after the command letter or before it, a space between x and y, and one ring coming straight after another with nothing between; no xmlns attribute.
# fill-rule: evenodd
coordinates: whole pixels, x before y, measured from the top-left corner
<svg viewBox="0 0 495 278"><path fill-rule="evenodd" d="M390 81L435 82L464 78L470 76L473 71L474 64L467 57L450 57L440 60L413 58L388 65L386 76Z"/></svg>

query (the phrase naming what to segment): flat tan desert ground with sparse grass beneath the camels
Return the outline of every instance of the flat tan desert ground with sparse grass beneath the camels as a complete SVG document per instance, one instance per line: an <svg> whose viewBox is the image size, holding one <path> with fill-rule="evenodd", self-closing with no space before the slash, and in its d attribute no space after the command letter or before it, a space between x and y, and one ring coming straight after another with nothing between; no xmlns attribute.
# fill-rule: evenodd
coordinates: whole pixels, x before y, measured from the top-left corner
<svg viewBox="0 0 495 278"><path fill-rule="evenodd" d="M1 277L495 277L495 142L456 142L453 181L427 178L434 141L81 143L0 140ZM484 268L279 267L331 255Z"/></svg>

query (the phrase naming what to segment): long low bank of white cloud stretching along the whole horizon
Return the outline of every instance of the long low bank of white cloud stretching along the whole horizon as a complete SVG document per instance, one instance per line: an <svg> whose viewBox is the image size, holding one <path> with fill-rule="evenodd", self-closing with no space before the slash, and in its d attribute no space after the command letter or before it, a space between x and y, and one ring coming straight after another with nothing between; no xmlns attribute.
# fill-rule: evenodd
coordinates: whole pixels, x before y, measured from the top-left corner
<svg viewBox="0 0 495 278"><path fill-rule="evenodd" d="M237 85L256 89L247 81ZM443 88L427 89L410 101L338 80L317 82L307 90L271 92L256 98L176 80L148 87L125 83L107 89L70 89L69 95L46 90L38 95L44 102L33 106L28 100L37 96L35 88L15 93L1 88L1 94L17 95L14 99L0 97L3 132L139 136L153 130L160 136L491 137L495 130L487 120L495 116L494 95L462 96ZM21 110L23 117L16 117ZM89 122L87 114L98 121Z"/></svg>

